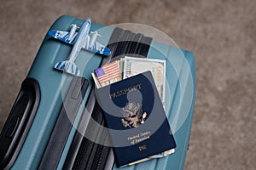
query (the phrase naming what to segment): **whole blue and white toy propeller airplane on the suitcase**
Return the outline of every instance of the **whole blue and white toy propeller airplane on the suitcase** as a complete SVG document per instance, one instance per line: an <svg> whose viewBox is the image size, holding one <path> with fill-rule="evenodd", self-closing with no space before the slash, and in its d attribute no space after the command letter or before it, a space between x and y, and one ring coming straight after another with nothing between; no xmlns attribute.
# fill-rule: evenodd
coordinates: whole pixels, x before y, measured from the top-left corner
<svg viewBox="0 0 256 170"><path fill-rule="evenodd" d="M69 57L66 61L58 62L55 65L55 69L59 71L65 71L69 74L75 76L80 76L80 71L78 66L74 63L75 59L79 56L80 50L84 48L85 50L109 55L111 54L110 49L103 46L101 43L96 42L96 38L100 36L97 31L91 31L92 35L89 36L91 21L87 19L84 21L84 24L81 28L77 25L72 24L70 31L49 31L48 34L50 37L61 40L62 42L67 42L73 44L73 49L69 54ZM79 32L77 30L79 29Z"/></svg>

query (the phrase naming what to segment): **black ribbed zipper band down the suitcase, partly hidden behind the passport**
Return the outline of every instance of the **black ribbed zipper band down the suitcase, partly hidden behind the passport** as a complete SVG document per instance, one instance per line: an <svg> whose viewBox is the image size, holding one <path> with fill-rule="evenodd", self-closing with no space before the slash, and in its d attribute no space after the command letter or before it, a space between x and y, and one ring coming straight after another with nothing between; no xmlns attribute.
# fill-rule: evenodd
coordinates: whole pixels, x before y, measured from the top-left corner
<svg viewBox="0 0 256 170"><path fill-rule="evenodd" d="M108 56L108 58L102 60L102 65L107 64L111 60L119 59L119 57L122 57L125 54L147 57L151 41L152 38L144 37L143 34L135 34L131 31L125 31L120 28L115 28L108 42L108 48L110 48L112 54ZM88 111L88 109L86 108L90 107L92 105L91 103L93 103L94 108L91 111L91 114L89 114L96 122L104 126L105 122L102 114L102 109L96 102L94 95L94 90L92 90L89 100L91 99L95 103L87 101L84 111ZM81 120L79 126L80 124L81 126L83 126L82 122L83 120ZM90 139L86 139L85 137L83 137L79 132L76 132L73 139L73 144L71 145L71 148L67 154L67 159L63 166L63 169L105 169L105 165L107 163L106 161L113 159L108 158L111 148L102 145L104 143L103 141L109 139L108 132L101 131L101 129L102 128L96 129L96 127L93 127L93 123L90 121L85 131L85 133L95 133L96 141L100 141L101 144L96 144L90 141ZM77 144L79 144L79 147ZM75 159L73 159L74 156ZM111 163L113 164L113 162Z"/></svg>

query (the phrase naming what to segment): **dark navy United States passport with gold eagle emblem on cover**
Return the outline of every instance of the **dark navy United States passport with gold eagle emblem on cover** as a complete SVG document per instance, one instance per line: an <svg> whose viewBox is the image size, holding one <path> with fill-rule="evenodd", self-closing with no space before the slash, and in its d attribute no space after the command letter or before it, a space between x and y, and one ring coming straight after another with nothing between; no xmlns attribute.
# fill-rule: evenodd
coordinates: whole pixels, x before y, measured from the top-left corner
<svg viewBox="0 0 256 170"><path fill-rule="evenodd" d="M98 88L96 98L118 167L147 161L176 147L150 71Z"/></svg>

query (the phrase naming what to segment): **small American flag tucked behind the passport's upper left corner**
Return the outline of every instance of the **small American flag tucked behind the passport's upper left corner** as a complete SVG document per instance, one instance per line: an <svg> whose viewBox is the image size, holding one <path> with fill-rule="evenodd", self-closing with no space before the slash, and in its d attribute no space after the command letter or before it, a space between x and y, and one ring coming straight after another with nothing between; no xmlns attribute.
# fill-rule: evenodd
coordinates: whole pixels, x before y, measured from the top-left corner
<svg viewBox="0 0 256 170"><path fill-rule="evenodd" d="M116 77L120 77L121 74L118 61L113 61L107 65L103 65L102 67L94 70L94 72L96 73L96 77L100 83L113 80Z"/></svg>

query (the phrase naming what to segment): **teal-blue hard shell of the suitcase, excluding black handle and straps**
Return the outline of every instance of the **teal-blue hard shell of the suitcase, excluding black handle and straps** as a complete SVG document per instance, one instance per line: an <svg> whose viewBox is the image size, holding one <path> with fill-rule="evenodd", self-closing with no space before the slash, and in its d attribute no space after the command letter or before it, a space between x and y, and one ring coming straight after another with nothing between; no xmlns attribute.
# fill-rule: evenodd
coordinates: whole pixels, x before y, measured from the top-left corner
<svg viewBox="0 0 256 170"><path fill-rule="evenodd" d="M69 30L71 24L81 26L83 20L63 15L55 20L50 30ZM103 29L102 29L103 28ZM102 26L93 23L90 31L99 31L102 37L98 41L108 45L108 40L113 32L113 27ZM56 41L46 35L38 54L34 59L32 67L27 75L28 78L36 80L39 84L41 99L38 105L38 111L34 116L32 126L26 136L19 155L15 160L12 169L37 169L48 143L50 133L55 125L56 118L61 109L63 96L67 93L67 88L72 81L72 76L62 74L54 70L54 65L58 61L66 60L72 46L63 42ZM130 167L113 169L183 169L186 153L189 145L189 135L191 122L195 105L195 58L194 54L180 49L168 46L161 42L152 41L148 51L149 59L166 59L166 83L169 84L169 90L166 92L166 116L174 130L174 138L177 143L175 153L160 159L145 161ZM85 64L83 77L89 80L89 88L84 96L84 103L88 99L90 89L94 86L90 73L96 69L102 61L102 56L90 54L82 50L76 63L78 66ZM188 97L189 96L189 99ZM183 109L189 102L187 109ZM67 144L62 152L58 169L64 164L68 149L76 131L75 126L79 122L82 114L83 105L74 122L67 139ZM185 111L183 111L185 110ZM183 114L183 112L186 112Z"/></svg>

